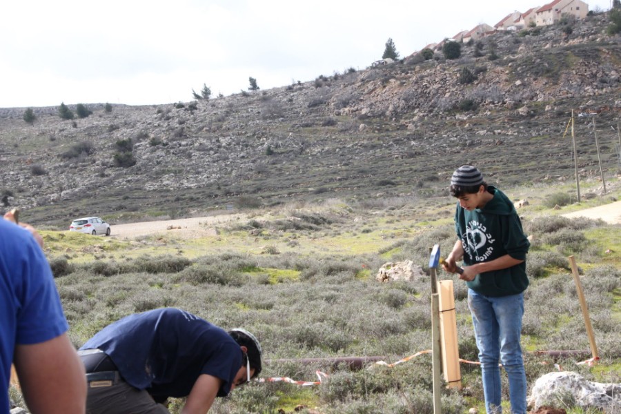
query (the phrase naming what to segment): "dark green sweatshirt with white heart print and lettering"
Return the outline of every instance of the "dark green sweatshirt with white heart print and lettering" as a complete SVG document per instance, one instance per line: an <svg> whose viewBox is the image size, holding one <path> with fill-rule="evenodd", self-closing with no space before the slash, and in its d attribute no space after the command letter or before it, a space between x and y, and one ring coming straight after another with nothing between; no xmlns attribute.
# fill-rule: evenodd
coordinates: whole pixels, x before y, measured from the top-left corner
<svg viewBox="0 0 621 414"><path fill-rule="evenodd" d="M457 202L455 230L464 248L464 263L471 266L491 262L504 255L524 262L510 268L480 273L466 284L480 295L517 295L529 286L525 261L531 244L524 235L522 222L511 200L497 188L487 188L493 198L483 208L468 211Z"/></svg>

